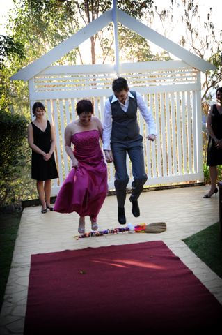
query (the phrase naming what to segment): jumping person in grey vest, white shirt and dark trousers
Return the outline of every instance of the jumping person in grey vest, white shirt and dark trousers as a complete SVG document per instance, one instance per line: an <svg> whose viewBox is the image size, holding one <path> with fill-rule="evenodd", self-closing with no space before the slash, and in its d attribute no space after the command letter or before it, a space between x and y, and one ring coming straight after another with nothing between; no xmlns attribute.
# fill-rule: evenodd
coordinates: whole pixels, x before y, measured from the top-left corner
<svg viewBox="0 0 222 335"><path fill-rule="evenodd" d="M139 133L137 122L137 109L140 110L143 119L148 125L148 140L156 138L156 125L152 113L145 105L141 94L136 91L129 91L127 80L119 77L113 80L113 95L105 103L104 108L104 131L103 149L108 163L115 165L115 188L118 202L118 221L125 225L125 199L126 188L129 182L127 174L126 157L129 155L132 163L132 195L129 200L132 202L132 214L135 217L140 215L138 197L143 190L143 185L148 179L144 167L143 136Z"/></svg>

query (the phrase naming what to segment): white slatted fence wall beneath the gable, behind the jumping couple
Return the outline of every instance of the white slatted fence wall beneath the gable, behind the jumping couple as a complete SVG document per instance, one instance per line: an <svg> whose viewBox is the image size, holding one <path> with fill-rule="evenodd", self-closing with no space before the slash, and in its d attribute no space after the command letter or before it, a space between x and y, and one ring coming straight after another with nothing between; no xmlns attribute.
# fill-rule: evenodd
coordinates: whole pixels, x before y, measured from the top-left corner
<svg viewBox="0 0 222 335"><path fill-rule="evenodd" d="M121 64L121 76L139 91L157 123L157 140L148 142L143 117L138 113L144 137L146 185L203 179L200 112L200 73L182 61ZM56 130L57 194L70 171L65 153L64 130L76 119L75 105L81 98L93 101L95 116L104 121L104 102L112 94L116 77L113 66L51 66L29 81L30 103L42 101ZM109 164L109 188L114 188L114 168ZM129 177L132 170L127 161ZM129 184L130 187L130 184Z"/></svg>

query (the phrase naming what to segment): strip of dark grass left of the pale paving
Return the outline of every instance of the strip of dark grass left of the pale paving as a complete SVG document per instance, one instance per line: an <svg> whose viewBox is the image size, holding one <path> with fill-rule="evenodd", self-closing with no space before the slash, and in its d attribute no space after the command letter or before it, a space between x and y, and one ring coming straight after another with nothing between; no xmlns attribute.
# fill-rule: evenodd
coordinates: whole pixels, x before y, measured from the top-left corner
<svg viewBox="0 0 222 335"><path fill-rule="evenodd" d="M0 213L0 308L6 290L20 218L21 213Z"/></svg>

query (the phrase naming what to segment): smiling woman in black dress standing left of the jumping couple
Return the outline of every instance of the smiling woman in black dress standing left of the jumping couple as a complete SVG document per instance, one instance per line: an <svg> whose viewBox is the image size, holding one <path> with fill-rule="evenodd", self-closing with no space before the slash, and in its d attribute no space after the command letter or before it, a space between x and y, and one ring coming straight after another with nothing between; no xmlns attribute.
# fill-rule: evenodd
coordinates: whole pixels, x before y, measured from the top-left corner
<svg viewBox="0 0 222 335"><path fill-rule="evenodd" d="M54 127L45 119L45 106L42 103L34 103L33 115L35 120L28 126L28 142L32 149L31 178L37 181L42 213L46 213L47 209L53 210L50 205L51 179L58 178L53 152L56 137Z"/></svg>

